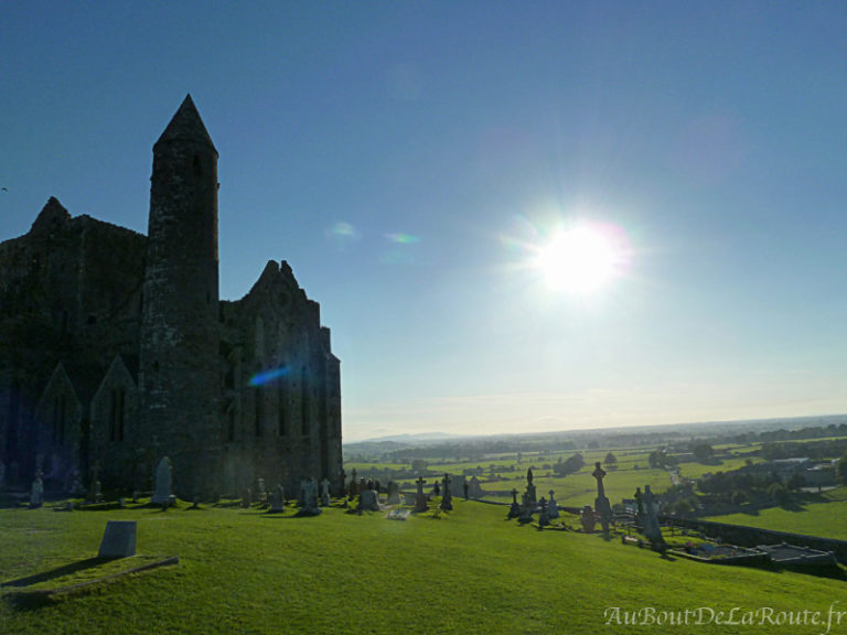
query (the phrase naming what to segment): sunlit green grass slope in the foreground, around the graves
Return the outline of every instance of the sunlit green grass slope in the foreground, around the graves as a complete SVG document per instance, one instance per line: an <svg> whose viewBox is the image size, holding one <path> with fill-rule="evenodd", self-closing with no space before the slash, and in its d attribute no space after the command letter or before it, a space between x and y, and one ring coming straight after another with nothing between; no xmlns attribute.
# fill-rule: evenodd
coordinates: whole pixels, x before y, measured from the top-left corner
<svg viewBox="0 0 847 635"><path fill-rule="evenodd" d="M0 633L655 634L666 629L607 625L604 613L826 612L847 591L840 580L663 559L597 535L538 531L505 513L463 501L439 519L405 523L337 508L315 518L238 508L4 509L2 582L90 558L108 519L137 520L139 553L175 555L180 563L36 609L0 602ZM787 632L766 623L748 629Z"/></svg>

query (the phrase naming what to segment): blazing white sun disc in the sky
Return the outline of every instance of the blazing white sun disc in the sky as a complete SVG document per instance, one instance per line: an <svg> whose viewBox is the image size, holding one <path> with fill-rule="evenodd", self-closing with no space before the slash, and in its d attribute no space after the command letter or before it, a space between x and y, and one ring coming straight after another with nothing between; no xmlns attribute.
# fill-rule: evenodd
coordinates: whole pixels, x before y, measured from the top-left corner
<svg viewBox="0 0 847 635"><path fill-rule="evenodd" d="M534 266L550 289L590 294L614 279L623 252L602 227L562 229L538 249Z"/></svg>

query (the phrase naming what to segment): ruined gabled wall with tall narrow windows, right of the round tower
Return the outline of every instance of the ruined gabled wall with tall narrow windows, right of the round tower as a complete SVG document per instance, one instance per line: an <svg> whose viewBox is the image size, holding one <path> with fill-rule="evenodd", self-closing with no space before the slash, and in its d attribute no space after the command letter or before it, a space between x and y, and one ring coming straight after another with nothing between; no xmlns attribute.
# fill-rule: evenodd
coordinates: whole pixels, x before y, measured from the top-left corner
<svg viewBox="0 0 847 635"><path fill-rule="evenodd" d="M242 470L234 477L239 489L259 477L290 492L309 476L334 483L341 471L340 413L337 429L329 413L340 409L340 397L337 408L330 406L340 386L332 384L337 360L328 356L319 304L305 297L287 262L270 261L244 299L224 303L222 315L232 351L223 370L230 387L225 394L237 417L227 446L230 464Z"/></svg>

